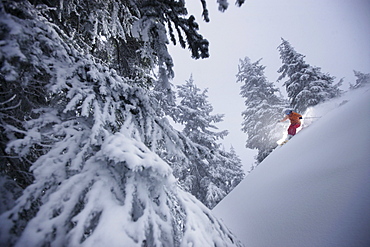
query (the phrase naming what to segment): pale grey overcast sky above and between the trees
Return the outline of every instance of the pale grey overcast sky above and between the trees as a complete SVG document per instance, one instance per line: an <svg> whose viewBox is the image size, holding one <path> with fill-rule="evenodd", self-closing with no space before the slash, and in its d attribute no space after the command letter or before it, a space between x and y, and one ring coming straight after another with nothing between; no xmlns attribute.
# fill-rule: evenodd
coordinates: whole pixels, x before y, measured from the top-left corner
<svg viewBox="0 0 370 247"><path fill-rule="evenodd" d="M284 38L310 65L337 81L344 77L344 90L355 81L353 70L370 73L370 0L246 0L240 8L231 0L224 13L218 11L216 0L208 0L209 23L200 16L200 0L186 3L210 42L211 56L193 60L188 50L171 46L173 84L184 84L192 74L198 87L208 88L213 113L225 114L217 126L230 132L223 143L227 149L233 145L247 167L253 154L245 148L246 134L240 131L244 102L235 77L239 59L262 58L265 75L275 82L281 66L277 47Z"/></svg>

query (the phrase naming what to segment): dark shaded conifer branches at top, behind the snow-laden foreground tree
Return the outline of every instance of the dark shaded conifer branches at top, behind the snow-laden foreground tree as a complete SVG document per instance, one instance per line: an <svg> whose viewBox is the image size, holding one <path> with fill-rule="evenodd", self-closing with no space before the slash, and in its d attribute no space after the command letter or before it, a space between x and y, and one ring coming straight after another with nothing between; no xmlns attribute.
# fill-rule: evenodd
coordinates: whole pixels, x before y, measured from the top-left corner
<svg viewBox="0 0 370 247"><path fill-rule="evenodd" d="M185 1L127 0L33 0L34 7L58 26L85 53L136 78L142 86L159 82L165 91L173 78L168 39L191 50L192 57L209 56L208 41L198 32ZM204 6L204 11L207 9ZM177 38L175 33L177 33ZM185 36L185 38L184 38ZM158 68L160 80L151 70Z"/></svg>

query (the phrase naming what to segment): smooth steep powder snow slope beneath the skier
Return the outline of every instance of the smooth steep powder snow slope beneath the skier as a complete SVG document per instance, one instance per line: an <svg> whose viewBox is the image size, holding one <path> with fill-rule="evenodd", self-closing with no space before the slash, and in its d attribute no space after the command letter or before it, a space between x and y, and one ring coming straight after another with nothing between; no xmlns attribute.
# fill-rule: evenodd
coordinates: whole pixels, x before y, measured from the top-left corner
<svg viewBox="0 0 370 247"><path fill-rule="evenodd" d="M249 247L370 246L369 107L362 88L312 109L324 116L271 153L214 214Z"/></svg>

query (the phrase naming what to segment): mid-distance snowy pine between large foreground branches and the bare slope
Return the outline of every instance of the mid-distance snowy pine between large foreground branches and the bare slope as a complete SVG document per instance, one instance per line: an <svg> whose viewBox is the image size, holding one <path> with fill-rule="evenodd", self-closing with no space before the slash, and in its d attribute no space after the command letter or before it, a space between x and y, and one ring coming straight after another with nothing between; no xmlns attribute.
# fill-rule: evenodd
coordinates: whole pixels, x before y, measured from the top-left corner
<svg viewBox="0 0 370 247"><path fill-rule="evenodd" d="M189 157L188 172L183 174L183 186L207 207L213 208L231 191L232 181L243 177L244 172L240 165L229 165L235 159L231 160L231 155L222 151L221 144L217 143L228 132L214 131L223 115L211 114L213 107L207 100L207 90L201 92L190 77L184 85L178 86L178 98L180 103L173 118L184 126L182 133L197 145L197 152Z"/></svg>

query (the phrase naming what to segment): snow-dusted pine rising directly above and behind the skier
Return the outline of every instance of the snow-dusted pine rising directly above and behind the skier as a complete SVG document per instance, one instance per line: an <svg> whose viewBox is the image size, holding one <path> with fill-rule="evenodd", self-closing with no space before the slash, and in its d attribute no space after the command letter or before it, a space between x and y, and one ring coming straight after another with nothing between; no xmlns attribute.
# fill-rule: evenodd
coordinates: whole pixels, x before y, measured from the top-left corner
<svg viewBox="0 0 370 247"><path fill-rule="evenodd" d="M308 107L341 94L339 86L342 81L333 84L335 77L322 73L319 67L307 64L305 56L297 53L287 40L282 39L278 49L282 60L278 81L287 77L284 86L291 108L303 113Z"/></svg>

